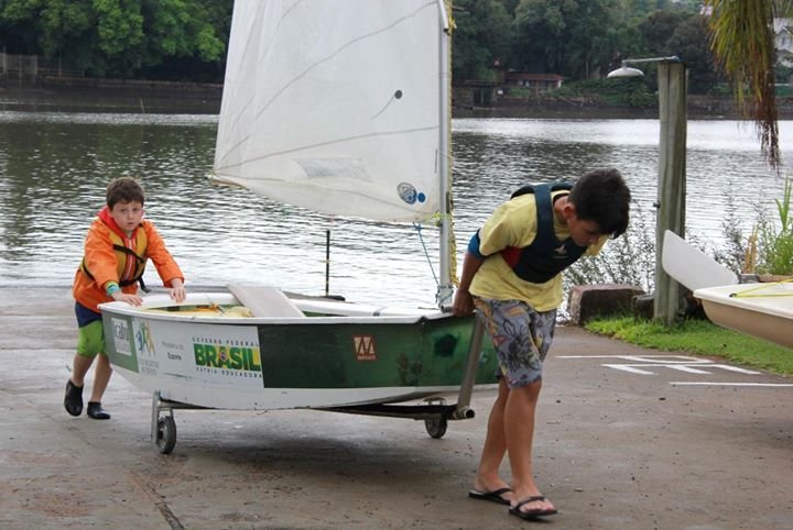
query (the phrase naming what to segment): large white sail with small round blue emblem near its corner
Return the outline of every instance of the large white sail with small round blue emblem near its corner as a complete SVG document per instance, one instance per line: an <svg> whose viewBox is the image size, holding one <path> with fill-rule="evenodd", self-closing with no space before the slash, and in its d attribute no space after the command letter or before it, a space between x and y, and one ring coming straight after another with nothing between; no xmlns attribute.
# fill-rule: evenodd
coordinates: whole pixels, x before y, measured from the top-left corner
<svg viewBox="0 0 793 530"><path fill-rule="evenodd" d="M437 212L444 20L438 0L237 0L217 180L338 216Z"/></svg>

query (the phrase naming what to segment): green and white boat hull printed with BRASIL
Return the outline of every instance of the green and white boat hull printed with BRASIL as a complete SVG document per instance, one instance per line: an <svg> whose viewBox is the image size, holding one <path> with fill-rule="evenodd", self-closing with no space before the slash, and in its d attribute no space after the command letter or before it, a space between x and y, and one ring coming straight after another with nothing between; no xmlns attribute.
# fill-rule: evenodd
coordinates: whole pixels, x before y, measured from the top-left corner
<svg viewBox="0 0 793 530"><path fill-rule="evenodd" d="M230 295L199 294L186 303L205 299L236 301ZM162 399L208 408L328 408L456 393L474 328L472 317L427 311L363 317L344 302L338 308L349 307L351 316L330 314L327 302L313 309L308 303L308 318L150 311L167 305L161 297L143 308L102 306L110 363L133 385ZM475 383L492 388L496 366L485 340Z"/></svg>

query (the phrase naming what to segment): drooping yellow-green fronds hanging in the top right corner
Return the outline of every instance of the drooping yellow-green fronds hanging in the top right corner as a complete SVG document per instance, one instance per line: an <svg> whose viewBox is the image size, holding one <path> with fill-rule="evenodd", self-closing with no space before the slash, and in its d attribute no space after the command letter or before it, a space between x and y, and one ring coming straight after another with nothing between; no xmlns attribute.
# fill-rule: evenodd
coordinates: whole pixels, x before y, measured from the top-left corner
<svg viewBox="0 0 793 530"><path fill-rule="evenodd" d="M779 168L773 19L793 16L793 1L705 0L705 5L714 54L739 108L756 122L765 159Z"/></svg>

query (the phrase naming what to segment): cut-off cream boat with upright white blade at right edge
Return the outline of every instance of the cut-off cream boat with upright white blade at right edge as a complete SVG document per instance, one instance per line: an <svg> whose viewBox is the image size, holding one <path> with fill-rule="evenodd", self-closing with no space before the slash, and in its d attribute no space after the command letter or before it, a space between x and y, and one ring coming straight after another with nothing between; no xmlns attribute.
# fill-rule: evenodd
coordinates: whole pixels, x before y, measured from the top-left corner
<svg viewBox="0 0 793 530"><path fill-rule="evenodd" d="M714 323L793 349L793 281L740 284L735 273L670 230L662 266L702 301Z"/></svg>

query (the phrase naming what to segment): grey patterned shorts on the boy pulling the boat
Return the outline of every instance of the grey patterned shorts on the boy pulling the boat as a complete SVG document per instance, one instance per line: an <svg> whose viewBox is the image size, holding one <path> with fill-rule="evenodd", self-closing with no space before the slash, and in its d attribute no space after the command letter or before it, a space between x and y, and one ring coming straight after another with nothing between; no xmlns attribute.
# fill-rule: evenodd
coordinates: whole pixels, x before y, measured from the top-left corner
<svg viewBox="0 0 793 530"><path fill-rule="evenodd" d="M499 368L510 388L542 378L542 364L551 349L556 310L537 312L524 301L474 297L477 316L490 333Z"/></svg>

